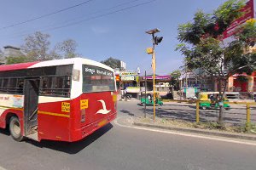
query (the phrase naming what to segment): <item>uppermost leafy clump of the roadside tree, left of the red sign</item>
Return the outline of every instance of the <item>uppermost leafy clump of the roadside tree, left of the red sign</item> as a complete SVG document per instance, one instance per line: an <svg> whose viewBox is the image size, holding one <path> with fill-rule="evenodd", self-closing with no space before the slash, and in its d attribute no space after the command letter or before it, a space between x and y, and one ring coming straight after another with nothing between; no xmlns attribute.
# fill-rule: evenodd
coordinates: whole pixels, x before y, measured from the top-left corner
<svg viewBox="0 0 256 170"><path fill-rule="evenodd" d="M241 16L240 9L245 5L243 0L229 0L213 14L205 14L201 10L195 13L194 22L178 26L177 39L180 42L197 44L202 38L222 35L233 20Z"/></svg>

